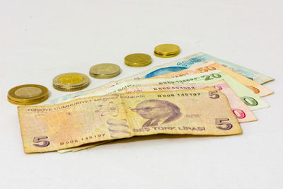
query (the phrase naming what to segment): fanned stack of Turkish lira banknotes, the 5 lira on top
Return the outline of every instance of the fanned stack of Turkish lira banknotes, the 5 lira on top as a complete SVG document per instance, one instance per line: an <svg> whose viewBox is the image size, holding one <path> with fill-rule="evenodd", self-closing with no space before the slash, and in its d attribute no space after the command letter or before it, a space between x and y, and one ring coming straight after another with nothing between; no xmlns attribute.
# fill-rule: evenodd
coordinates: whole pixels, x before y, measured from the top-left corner
<svg viewBox="0 0 283 189"><path fill-rule="evenodd" d="M18 107L25 153L79 151L133 136L241 134L273 79L204 53L44 105Z"/></svg>

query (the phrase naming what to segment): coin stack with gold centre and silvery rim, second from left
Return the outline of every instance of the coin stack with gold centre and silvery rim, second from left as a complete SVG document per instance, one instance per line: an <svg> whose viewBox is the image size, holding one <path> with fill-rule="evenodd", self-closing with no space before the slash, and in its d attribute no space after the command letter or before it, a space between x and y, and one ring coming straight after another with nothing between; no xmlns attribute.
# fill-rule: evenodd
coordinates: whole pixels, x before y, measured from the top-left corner
<svg viewBox="0 0 283 189"><path fill-rule="evenodd" d="M88 85L88 76L80 73L60 74L53 79L53 87L59 91L79 91Z"/></svg>

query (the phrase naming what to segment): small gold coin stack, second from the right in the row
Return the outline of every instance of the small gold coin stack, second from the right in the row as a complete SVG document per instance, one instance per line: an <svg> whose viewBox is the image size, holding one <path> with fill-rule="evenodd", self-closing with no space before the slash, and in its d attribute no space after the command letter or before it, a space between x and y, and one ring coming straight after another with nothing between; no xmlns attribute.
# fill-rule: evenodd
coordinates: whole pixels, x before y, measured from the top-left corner
<svg viewBox="0 0 283 189"><path fill-rule="evenodd" d="M125 64L129 67L145 67L151 64L151 56L143 53L135 53L125 57Z"/></svg>

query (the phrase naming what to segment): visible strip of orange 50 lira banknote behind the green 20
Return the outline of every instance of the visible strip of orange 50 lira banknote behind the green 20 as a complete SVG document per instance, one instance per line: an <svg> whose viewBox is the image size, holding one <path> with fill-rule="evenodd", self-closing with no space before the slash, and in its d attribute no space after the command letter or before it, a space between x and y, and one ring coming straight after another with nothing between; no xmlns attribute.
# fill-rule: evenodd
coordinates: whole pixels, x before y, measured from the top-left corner
<svg viewBox="0 0 283 189"><path fill-rule="evenodd" d="M218 64L214 61L209 61L205 64L202 64L197 67L192 67L189 69L183 69L181 71L175 71L170 74L164 74L160 76L155 76L151 79L156 79L156 78L172 78L172 77L179 77L179 76L185 76L185 75L190 75L190 74L200 74L204 73L207 71L213 71L219 69L223 71L224 73L228 74L229 76L233 77L233 79L236 79L239 83L243 84L244 86L250 88L253 90L254 93L256 93L258 96L267 96L273 93L270 89L266 88L265 86L262 86L258 84L257 82L248 79L246 76L243 76L241 74L238 74L234 71L231 71L230 69L222 66L221 64ZM209 78L206 78L209 79Z"/></svg>

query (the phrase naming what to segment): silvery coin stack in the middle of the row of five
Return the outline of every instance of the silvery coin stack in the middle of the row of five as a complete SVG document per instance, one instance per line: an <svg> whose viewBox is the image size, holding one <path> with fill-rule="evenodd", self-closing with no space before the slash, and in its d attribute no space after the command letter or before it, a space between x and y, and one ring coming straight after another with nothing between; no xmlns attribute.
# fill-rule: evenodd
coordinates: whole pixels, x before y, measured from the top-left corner
<svg viewBox="0 0 283 189"><path fill-rule="evenodd" d="M98 79L109 79L121 73L121 69L116 64L103 63L96 64L89 69L89 74Z"/></svg>

